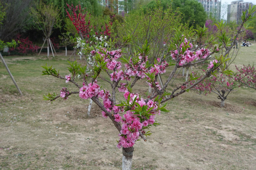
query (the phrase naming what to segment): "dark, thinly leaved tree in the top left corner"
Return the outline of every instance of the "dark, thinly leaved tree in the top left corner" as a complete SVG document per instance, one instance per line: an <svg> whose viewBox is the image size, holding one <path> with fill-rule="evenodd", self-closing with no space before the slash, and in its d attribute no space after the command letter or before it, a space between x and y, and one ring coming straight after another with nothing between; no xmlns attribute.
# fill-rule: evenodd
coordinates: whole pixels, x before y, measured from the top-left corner
<svg viewBox="0 0 256 170"><path fill-rule="evenodd" d="M19 31L31 21L29 10L33 0L1 0L2 9L5 9L5 17L0 25L0 39L11 41ZM1 12L2 12L1 9Z"/></svg>

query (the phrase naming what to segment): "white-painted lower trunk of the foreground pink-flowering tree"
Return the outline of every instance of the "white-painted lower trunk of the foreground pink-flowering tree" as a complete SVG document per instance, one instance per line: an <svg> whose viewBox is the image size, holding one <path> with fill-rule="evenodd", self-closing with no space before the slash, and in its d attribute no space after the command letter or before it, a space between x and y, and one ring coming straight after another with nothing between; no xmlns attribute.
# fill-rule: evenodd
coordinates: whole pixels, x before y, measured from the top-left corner
<svg viewBox="0 0 256 170"><path fill-rule="evenodd" d="M129 147L129 148L123 147L122 170L131 170L133 150L134 150L134 147Z"/></svg>

